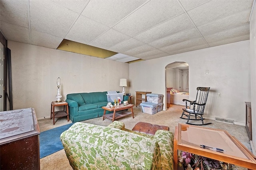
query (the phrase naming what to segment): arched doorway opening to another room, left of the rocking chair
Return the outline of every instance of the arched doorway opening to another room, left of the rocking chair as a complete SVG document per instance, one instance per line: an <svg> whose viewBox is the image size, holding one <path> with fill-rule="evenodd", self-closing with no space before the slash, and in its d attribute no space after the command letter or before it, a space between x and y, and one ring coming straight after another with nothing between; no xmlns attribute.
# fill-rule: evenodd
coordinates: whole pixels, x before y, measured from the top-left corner
<svg viewBox="0 0 256 170"><path fill-rule="evenodd" d="M189 92L189 67L185 62L174 62L166 65L165 67L165 82L166 82L166 108L170 107L170 104L182 104L182 99L171 96L173 91ZM175 97L180 97L175 95ZM176 102L176 100L178 102Z"/></svg>

